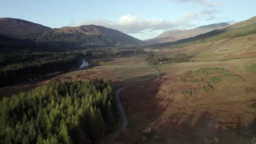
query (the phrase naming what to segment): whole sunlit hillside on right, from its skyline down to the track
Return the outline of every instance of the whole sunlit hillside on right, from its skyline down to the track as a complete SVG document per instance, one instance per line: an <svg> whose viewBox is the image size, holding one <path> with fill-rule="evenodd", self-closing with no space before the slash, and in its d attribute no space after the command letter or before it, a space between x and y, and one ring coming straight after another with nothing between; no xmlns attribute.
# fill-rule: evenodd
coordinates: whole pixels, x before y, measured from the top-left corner
<svg viewBox="0 0 256 144"><path fill-rule="evenodd" d="M216 34L217 32L222 32ZM167 48L156 55L174 57L177 53L187 53L190 61L220 61L256 56L256 17L235 23L219 31L199 35L201 39L189 42L159 46ZM215 33L215 35L214 35ZM212 36L210 36L213 34ZM196 39L196 37L194 37ZM188 40L188 39L184 39ZM178 41L176 42L178 43ZM169 49L168 49L169 48Z"/></svg>

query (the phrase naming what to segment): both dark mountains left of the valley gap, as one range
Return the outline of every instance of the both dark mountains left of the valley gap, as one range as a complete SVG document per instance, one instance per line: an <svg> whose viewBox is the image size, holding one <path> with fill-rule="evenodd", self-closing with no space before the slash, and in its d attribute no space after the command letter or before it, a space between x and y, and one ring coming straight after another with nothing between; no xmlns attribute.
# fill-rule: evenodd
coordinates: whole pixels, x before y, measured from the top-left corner
<svg viewBox="0 0 256 144"><path fill-rule="evenodd" d="M37 23L12 18L0 18L0 35L44 44L65 46L134 46L146 44L115 29L88 25L50 28Z"/></svg>

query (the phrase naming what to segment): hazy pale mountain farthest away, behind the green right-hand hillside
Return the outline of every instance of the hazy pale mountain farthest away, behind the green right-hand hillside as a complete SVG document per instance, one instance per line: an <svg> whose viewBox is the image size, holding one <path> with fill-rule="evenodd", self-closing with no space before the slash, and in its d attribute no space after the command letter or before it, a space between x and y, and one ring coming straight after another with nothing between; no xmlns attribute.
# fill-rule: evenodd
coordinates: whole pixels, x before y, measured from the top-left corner
<svg viewBox="0 0 256 144"><path fill-rule="evenodd" d="M196 27L188 30L173 29L173 30L161 33L160 35L158 35L153 39L148 39L144 41L146 41L148 44L173 42L180 39L195 37L196 35L211 32L215 29L220 29L228 25L229 25L228 23L214 23L212 25L200 26L200 27Z"/></svg>

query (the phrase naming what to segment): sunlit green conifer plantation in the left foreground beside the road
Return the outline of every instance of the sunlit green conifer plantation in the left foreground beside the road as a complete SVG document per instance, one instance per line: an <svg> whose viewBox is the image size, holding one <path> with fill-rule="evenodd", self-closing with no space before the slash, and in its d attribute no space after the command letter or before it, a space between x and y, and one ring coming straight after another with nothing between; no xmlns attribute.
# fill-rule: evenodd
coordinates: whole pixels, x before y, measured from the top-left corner
<svg viewBox="0 0 256 144"><path fill-rule="evenodd" d="M56 81L0 102L0 143L96 143L115 130L109 80Z"/></svg>

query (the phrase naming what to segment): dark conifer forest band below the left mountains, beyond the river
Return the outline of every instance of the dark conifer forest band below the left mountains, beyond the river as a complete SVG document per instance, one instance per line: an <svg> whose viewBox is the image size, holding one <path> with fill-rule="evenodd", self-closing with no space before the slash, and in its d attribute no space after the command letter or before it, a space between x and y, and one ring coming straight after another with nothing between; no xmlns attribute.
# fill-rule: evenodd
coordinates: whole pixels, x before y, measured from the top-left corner
<svg viewBox="0 0 256 144"><path fill-rule="evenodd" d="M0 86L32 82L81 64L81 57L109 58L143 55L143 49L88 49L72 52L7 52L0 53Z"/></svg>

